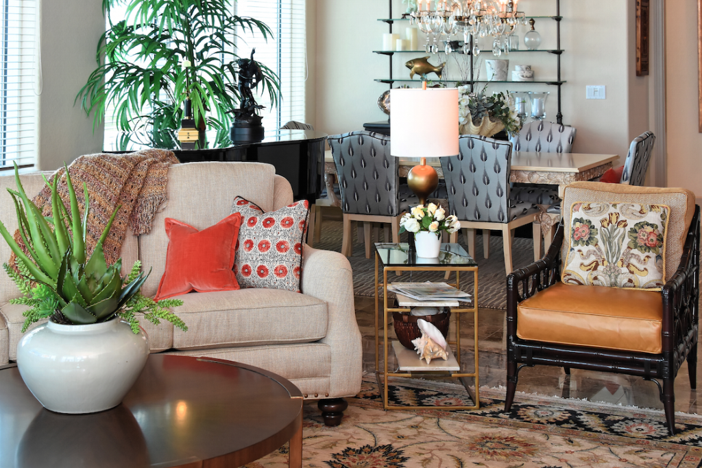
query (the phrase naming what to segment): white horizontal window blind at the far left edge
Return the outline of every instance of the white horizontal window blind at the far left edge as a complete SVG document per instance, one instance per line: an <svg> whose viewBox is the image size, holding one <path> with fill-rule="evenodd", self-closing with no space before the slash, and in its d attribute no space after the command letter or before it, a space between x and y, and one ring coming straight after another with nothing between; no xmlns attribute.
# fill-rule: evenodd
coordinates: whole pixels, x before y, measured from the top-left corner
<svg viewBox="0 0 702 468"><path fill-rule="evenodd" d="M37 0L0 0L0 170L37 157Z"/></svg>

